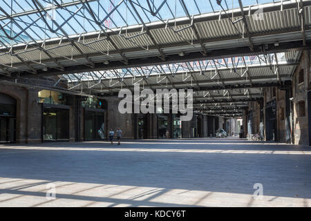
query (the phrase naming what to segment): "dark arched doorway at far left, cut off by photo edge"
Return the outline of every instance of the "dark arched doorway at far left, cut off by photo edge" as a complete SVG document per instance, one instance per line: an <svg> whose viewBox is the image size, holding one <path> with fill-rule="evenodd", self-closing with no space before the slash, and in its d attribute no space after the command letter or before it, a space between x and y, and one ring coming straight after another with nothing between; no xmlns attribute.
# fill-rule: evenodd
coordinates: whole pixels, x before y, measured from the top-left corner
<svg viewBox="0 0 311 221"><path fill-rule="evenodd" d="M16 141L16 106L15 98L0 93L0 143Z"/></svg>

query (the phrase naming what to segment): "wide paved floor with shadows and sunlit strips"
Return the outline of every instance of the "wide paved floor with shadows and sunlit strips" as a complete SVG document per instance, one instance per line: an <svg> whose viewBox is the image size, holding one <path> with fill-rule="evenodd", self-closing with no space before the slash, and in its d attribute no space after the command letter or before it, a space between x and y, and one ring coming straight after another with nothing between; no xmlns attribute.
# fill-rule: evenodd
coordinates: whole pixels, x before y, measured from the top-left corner
<svg viewBox="0 0 311 221"><path fill-rule="evenodd" d="M233 138L0 145L0 206L311 206L311 148Z"/></svg>

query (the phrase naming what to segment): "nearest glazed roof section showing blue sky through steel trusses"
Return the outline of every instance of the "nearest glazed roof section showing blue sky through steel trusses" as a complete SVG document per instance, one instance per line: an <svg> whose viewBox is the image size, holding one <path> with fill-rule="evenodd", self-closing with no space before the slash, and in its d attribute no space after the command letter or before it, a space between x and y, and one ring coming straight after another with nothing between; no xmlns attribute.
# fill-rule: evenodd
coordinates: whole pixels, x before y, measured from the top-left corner
<svg viewBox="0 0 311 221"><path fill-rule="evenodd" d="M243 6L251 6L278 1L242 2ZM167 19L239 7L238 1L232 0L222 0L221 6L216 0L0 0L0 6L16 22L12 22L0 11L0 46L98 31L100 28L94 17L100 21L104 30L140 24L142 22L133 6L144 23L164 22ZM92 9L93 15L86 7ZM59 27L55 27L53 20L57 21Z"/></svg>

